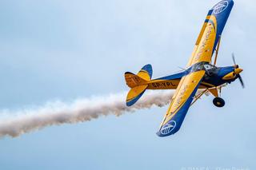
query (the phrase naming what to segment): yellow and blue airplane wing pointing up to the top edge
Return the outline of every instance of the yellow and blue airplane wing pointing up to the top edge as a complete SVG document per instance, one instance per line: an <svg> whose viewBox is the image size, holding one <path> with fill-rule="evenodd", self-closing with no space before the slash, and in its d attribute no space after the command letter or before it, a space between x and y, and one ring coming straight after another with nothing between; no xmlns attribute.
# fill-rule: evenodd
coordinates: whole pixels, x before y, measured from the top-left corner
<svg viewBox="0 0 256 170"><path fill-rule="evenodd" d="M211 61L233 6L233 0L223 0L209 10L187 67L201 61Z"/></svg>

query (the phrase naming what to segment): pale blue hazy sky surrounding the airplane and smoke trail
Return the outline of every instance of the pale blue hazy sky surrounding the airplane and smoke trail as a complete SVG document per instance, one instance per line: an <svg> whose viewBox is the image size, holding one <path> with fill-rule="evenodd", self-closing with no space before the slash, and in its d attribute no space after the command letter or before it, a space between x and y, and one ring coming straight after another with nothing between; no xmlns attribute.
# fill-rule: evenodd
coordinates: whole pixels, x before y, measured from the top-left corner
<svg viewBox="0 0 256 170"><path fill-rule="evenodd" d="M147 63L153 77L174 73L186 65L215 3L1 1L0 109L122 92L123 73ZM254 169L255 8L253 0L235 1L223 32L218 65L232 65L234 52L246 83L223 90L223 109L203 97L166 138L155 134L166 107L6 137L1 169Z"/></svg>

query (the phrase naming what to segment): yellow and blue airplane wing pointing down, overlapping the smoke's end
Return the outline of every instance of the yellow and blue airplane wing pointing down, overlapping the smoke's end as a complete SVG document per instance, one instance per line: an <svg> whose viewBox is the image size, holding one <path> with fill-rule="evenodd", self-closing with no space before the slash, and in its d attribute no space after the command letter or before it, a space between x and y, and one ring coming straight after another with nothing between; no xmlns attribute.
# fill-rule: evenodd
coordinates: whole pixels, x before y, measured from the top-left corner
<svg viewBox="0 0 256 170"><path fill-rule="evenodd" d="M169 136L178 132L204 75L204 70L198 70L182 77L162 125L157 132L158 136Z"/></svg>

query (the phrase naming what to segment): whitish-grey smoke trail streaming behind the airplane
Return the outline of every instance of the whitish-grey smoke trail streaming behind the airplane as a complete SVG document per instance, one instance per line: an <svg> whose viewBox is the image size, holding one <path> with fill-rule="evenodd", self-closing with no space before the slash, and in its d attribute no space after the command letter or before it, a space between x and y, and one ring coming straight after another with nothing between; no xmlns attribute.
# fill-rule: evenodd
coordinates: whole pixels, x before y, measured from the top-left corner
<svg viewBox="0 0 256 170"><path fill-rule="evenodd" d="M16 137L46 126L75 124L103 115L119 116L138 109L149 109L153 105L162 107L170 102L172 95L172 91L169 90L147 93L132 107L126 106L126 93L118 93L109 97L79 99L70 104L56 101L37 109L0 111L0 115L8 115L0 118L0 137Z"/></svg>

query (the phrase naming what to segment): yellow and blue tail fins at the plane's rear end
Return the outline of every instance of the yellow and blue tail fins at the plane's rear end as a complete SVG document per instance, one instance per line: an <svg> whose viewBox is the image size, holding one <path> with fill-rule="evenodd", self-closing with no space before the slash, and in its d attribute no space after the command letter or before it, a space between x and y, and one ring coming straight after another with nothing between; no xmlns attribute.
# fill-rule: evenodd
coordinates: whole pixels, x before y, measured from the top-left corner
<svg viewBox="0 0 256 170"><path fill-rule="evenodd" d="M147 82L151 80L152 73L151 65L145 65L137 75L130 72L125 73L126 85L131 88L126 97L127 106L134 105L142 97L148 87Z"/></svg>

